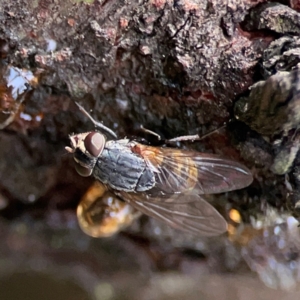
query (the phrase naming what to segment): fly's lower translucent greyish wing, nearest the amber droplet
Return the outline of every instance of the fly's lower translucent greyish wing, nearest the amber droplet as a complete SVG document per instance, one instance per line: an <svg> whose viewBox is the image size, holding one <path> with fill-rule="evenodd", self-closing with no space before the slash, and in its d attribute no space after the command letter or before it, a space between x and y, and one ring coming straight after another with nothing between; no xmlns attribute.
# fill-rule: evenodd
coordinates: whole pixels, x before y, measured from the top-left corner
<svg viewBox="0 0 300 300"><path fill-rule="evenodd" d="M214 236L227 230L219 212L198 195L173 195L168 201L121 192L119 196L142 213L171 227L201 236ZM184 201L179 198L184 197Z"/></svg>

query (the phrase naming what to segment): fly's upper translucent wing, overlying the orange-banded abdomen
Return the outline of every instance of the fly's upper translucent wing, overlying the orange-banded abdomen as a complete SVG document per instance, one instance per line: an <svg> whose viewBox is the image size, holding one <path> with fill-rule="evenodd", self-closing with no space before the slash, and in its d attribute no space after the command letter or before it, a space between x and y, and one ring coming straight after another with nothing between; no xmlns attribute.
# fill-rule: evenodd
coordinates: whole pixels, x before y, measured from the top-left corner
<svg viewBox="0 0 300 300"><path fill-rule="evenodd" d="M237 190L252 182L250 171L238 162L213 154L136 144L140 154L155 172L156 184L151 196L194 191L216 194Z"/></svg>

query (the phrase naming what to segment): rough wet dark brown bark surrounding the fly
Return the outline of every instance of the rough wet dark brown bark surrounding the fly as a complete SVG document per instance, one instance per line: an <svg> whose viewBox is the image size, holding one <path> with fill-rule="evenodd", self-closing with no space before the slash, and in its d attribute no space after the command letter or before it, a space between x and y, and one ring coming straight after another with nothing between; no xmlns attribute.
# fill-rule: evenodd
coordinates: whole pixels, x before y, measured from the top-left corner
<svg viewBox="0 0 300 300"><path fill-rule="evenodd" d="M300 242L289 216L299 209L300 15L296 3L286 2L1 0L1 257L13 253L9 272L18 265L14 255L25 253L20 265L27 272L24 262L34 251L48 263L55 253L62 269L80 269L79 260L87 266L80 274L93 284L87 287L84 277L80 285L91 291L99 280L93 268L111 268L99 288L105 299L125 299L118 294L127 284L120 270L144 273L141 285L151 293L161 271L195 279L244 270L244 260L269 286L296 284ZM80 233L75 209L93 179L76 173L64 147L70 133L93 125L74 101L120 138L140 137L140 125L173 138L227 122L201 143L180 146L251 169L250 187L211 197L230 224L228 236L196 238L146 217L109 241ZM90 253L97 253L94 260ZM284 270L277 277L270 253ZM107 265L99 263L102 256Z"/></svg>

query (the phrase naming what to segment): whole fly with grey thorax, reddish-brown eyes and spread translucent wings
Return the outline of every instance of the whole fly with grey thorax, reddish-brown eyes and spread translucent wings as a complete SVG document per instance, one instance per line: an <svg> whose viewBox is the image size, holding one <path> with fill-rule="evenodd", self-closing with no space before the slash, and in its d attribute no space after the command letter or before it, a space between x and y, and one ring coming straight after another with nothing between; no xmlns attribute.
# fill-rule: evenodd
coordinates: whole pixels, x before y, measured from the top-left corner
<svg viewBox="0 0 300 300"><path fill-rule="evenodd" d="M77 106L96 128L116 138ZM217 155L147 146L130 139L108 140L97 130L70 135L70 143L66 150L73 154L81 176L94 176L108 191L150 217L202 236L227 230L225 219L202 195L242 189L253 179L245 166Z"/></svg>

